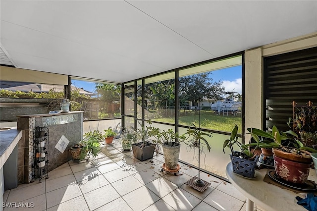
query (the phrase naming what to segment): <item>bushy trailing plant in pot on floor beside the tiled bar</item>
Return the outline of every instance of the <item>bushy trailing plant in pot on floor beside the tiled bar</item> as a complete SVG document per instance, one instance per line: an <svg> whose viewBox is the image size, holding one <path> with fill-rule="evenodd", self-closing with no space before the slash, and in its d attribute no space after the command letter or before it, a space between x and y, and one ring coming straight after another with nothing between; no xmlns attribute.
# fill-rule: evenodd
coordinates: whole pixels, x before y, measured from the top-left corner
<svg viewBox="0 0 317 211"><path fill-rule="evenodd" d="M96 130L85 133L84 139L70 148L73 160L82 160L87 155L92 155L95 158L100 151L99 141L101 138L102 134Z"/></svg>

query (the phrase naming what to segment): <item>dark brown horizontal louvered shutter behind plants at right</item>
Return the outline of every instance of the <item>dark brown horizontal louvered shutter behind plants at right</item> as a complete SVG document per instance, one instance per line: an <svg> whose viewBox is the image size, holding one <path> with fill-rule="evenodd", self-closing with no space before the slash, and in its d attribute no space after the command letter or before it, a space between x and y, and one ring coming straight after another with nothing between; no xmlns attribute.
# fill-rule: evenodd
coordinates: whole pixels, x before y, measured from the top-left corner
<svg viewBox="0 0 317 211"><path fill-rule="evenodd" d="M289 130L293 106L317 105L317 47L264 58L264 125Z"/></svg>

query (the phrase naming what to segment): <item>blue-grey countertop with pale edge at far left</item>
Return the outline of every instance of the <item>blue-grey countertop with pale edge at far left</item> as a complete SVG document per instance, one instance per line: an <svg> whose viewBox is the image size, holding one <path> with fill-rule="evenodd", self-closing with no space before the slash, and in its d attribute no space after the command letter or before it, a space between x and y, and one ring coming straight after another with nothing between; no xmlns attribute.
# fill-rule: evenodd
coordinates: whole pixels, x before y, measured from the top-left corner
<svg viewBox="0 0 317 211"><path fill-rule="evenodd" d="M22 137L22 131L16 127L0 131L0 168L3 166L7 158L9 158L15 146Z"/></svg>

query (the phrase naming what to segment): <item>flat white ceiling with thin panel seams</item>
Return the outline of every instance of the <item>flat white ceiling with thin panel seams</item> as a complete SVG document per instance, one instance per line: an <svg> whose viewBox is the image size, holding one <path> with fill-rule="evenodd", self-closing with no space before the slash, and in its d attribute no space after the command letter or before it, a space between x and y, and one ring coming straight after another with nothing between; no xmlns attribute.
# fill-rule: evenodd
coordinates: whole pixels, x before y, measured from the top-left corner
<svg viewBox="0 0 317 211"><path fill-rule="evenodd" d="M126 82L317 32L317 1L0 0L15 67Z"/></svg>

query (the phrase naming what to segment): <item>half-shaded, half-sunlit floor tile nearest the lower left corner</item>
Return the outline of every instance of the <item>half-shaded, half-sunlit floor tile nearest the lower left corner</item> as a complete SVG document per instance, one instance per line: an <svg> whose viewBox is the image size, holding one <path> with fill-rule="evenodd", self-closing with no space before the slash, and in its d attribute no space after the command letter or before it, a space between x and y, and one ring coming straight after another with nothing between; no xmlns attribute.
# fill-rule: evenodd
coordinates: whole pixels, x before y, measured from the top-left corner
<svg viewBox="0 0 317 211"><path fill-rule="evenodd" d="M68 185L57 190L46 193L47 208L52 208L60 203L66 202L82 195L77 184Z"/></svg>

